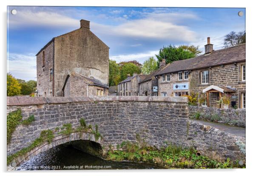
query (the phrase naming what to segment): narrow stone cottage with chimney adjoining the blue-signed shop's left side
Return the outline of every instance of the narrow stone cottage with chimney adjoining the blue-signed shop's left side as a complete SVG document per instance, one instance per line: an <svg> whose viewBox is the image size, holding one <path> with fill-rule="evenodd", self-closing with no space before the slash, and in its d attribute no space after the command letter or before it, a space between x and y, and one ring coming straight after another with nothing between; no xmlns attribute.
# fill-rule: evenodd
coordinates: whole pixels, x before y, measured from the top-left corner
<svg viewBox="0 0 256 176"><path fill-rule="evenodd" d="M169 64L165 63L165 59L159 63L159 69L153 71L151 74L145 76L143 80L139 82L139 95L140 96L158 96L158 82L156 75L163 69L168 67Z"/></svg>

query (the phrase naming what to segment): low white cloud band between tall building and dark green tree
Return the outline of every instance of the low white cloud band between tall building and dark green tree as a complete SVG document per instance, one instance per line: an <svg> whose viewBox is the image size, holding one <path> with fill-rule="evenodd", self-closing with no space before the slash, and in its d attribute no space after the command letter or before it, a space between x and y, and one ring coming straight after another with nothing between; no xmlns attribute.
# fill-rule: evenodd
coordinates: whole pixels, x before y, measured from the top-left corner
<svg viewBox="0 0 256 176"><path fill-rule="evenodd" d="M149 51L149 52L146 52L146 53L116 55L116 56L111 56L110 59L116 60L117 62L137 60L139 63L143 63L145 60L147 60L151 56L154 56L154 58L155 58L155 55L157 55L158 53L159 53L159 50Z"/></svg>

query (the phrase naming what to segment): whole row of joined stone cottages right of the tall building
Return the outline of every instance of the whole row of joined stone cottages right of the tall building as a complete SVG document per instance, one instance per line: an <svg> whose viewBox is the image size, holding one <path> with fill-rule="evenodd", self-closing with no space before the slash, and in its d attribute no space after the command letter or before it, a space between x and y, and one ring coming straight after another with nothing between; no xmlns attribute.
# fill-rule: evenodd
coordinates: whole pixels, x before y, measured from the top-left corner
<svg viewBox="0 0 256 176"><path fill-rule="evenodd" d="M245 44L213 50L210 38L205 54L196 58L159 63L149 75L134 75L117 86L119 96L194 95L199 106L221 107L220 97L228 96L229 108L245 108Z"/></svg>

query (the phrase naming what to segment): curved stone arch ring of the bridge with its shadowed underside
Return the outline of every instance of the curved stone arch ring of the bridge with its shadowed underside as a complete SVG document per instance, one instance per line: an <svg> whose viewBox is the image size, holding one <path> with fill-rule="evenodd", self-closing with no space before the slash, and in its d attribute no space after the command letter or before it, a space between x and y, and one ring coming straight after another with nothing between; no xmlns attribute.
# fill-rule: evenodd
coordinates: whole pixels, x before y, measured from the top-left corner
<svg viewBox="0 0 256 176"><path fill-rule="evenodd" d="M72 147L81 150L85 153L92 154L94 156L102 157L103 150L100 144L100 140L95 140L89 133L85 132L74 132L70 136L66 135L57 135L52 139L51 143L45 142L40 146L33 148L28 153L19 156L14 161L17 166L22 165L24 162L32 159L36 155L48 151L51 148L54 148L59 145L71 145ZM11 168L11 167L10 167Z"/></svg>

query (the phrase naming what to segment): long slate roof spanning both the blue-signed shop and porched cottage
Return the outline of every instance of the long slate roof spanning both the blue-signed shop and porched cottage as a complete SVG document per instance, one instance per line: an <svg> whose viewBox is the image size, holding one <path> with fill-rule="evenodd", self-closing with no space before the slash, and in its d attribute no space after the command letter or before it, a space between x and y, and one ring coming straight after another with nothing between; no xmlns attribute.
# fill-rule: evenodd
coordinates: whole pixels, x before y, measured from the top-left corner
<svg viewBox="0 0 256 176"><path fill-rule="evenodd" d="M213 52L209 54L199 55L191 59L174 61L165 69L159 71L156 75L201 69L241 61L245 61L245 44L239 44L221 50L213 50Z"/></svg>

